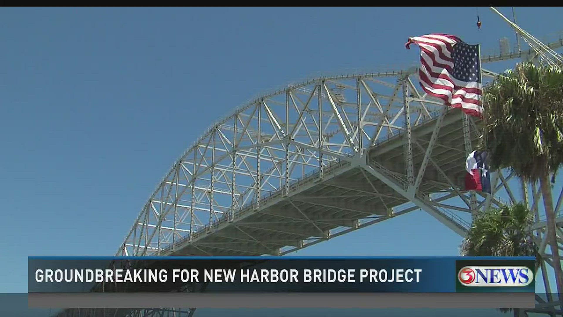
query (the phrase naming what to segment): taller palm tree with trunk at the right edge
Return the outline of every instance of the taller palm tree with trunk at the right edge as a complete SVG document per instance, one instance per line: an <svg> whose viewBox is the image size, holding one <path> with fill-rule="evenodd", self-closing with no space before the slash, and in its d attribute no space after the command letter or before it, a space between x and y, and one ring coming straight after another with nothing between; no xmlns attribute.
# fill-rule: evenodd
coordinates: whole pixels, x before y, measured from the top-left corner
<svg viewBox="0 0 563 317"><path fill-rule="evenodd" d="M490 168L511 169L526 182L539 180L557 293L563 302L563 272L549 182L563 165L563 71L518 64L485 87L484 106L481 147L490 151Z"/></svg>

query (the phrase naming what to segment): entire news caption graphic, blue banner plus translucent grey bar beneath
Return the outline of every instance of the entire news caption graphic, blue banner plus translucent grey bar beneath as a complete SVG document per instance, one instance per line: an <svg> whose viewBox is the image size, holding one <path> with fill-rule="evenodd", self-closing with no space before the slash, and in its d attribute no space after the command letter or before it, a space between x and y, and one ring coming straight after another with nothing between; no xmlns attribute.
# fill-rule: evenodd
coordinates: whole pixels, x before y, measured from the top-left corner
<svg viewBox="0 0 563 317"><path fill-rule="evenodd" d="M524 308L534 305L536 271L533 257L29 257L28 267L35 307L184 307L169 305L174 298L199 305L186 307L288 307L285 297L298 295L305 301L295 307L327 307L329 298L334 307L405 307L412 298L416 307L464 307L481 298Z"/></svg>

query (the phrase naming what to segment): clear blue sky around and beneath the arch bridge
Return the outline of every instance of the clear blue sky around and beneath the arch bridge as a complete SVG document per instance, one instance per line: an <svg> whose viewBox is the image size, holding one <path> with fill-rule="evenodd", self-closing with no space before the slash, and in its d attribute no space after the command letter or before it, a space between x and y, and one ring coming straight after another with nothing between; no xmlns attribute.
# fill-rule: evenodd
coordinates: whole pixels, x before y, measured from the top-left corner
<svg viewBox="0 0 563 317"><path fill-rule="evenodd" d="M172 162L262 91L412 65L409 36L515 43L479 13L480 32L475 7L2 8L0 292L26 292L29 255L113 255ZM516 14L538 37L563 29L563 8ZM453 256L460 243L413 212L297 255Z"/></svg>

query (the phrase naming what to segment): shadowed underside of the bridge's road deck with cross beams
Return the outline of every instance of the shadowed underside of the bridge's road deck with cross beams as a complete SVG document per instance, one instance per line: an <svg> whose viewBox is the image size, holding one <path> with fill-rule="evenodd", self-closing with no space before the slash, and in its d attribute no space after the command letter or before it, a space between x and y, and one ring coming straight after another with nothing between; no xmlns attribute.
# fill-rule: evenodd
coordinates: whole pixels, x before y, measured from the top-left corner
<svg viewBox="0 0 563 317"><path fill-rule="evenodd" d="M459 109L446 113L420 186L421 192L435 193L451 187L433 164L440 166L454 184L462 184L466 155L461 118ZM415 175L425 156L435 122L435 117L429 117L425 122L413 126ZM404 144L404 134L376 144L369 151L369 164L385 171L397 183L404 182ZM342 160L325 168L322 180L318 171L306 175L291 185L288 196L278 191L262 197L259 205L254 203L239 210L232 219L222 218L205 230L195 232L191 240L176 241L159 254L280 254L280 248L301 248L311 237L326 238L334 228L357 228L360 219L391 218L400 214L392 208L408 202L408 199L373 175ZM459 226L464 224L459 223Z"/></svg>

